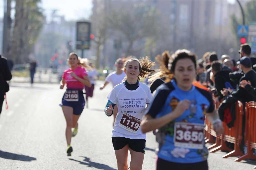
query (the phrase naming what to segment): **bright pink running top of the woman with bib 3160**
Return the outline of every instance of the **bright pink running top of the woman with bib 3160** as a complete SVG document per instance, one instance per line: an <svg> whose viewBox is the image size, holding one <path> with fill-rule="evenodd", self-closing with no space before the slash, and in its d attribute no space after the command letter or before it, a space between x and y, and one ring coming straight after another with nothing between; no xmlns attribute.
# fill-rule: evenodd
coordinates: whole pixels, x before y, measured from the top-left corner
<svg viewBox="0 0 256 170"><path fill-rule="evenodd" d="M65 70L62 75L62 79L66 80L67 88L68 89L76 89L76 90L82 90L84 87L84 84L79 82L77 79L75 79L73 76L70 75L70 72L74 72L78 77L83 79L84 75L88 75L86 70L82 67L77 67L74 70L71 70L69 68L68 70Z"/></svg>

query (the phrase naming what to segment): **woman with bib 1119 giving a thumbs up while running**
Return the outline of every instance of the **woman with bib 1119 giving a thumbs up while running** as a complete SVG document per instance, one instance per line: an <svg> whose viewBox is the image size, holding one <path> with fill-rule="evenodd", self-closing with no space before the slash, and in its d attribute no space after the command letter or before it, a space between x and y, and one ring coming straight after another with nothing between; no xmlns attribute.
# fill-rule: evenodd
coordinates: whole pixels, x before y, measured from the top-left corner
<svg viewBox="0 0 256 170"><path fill-rule="evenodd" d="M152 100L149 87L140 83L140 77L146 77L151 72L152 62L149 57L141 60L131 58L123 65L126 77L116 85L108 95L105 114L111 116L113 107L117 104L118 114L112 130L112 143L115 150L118 169L126 170L128 150L131 153L131 169L142 169L146 134L142 133L140 123L146 104Z"/></svg>

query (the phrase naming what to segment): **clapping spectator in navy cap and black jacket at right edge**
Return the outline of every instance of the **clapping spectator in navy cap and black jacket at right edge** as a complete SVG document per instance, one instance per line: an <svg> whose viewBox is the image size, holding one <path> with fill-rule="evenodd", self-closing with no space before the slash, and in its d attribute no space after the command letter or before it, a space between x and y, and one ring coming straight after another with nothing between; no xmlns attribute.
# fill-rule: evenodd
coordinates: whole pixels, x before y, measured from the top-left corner
<svg viewBox="0 0 256 170"><path fill-rule="evenodd" d="M250 81L252 87L256 87L256 72L252 70L251 59L247 56L242 57L237 64L239 64L241 70L244 72L244 75L241 77L239 82L242 80ZM221 94L223 96L232 95L234 97L238 97L239 100L244 103L253 100L253 96L244 88L241 88L240 85L238 85L237 89L233 91L223 88L223 90L221 90Z"/></svg>

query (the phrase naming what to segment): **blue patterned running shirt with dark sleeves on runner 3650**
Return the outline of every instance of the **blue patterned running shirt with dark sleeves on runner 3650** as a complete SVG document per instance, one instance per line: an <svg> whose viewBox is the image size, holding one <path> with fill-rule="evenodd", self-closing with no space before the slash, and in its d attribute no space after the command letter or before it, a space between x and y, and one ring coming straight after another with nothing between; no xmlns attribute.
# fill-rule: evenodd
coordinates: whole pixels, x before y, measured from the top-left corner
<svg viewBox="0 0 256 170"><path fill-rule="evenodd" d="M166 161L176 163L202 162L207 160L208 157L208 150L205 147L204 135L202 133L204 132L202 130L204 127L202 126L204 126L205 123L205 114L213 112L215 108L211 94L208 91L194 85L189 91L184 91L178 88L176 82L172 80L169 83L162 84L156 89L156 94L153 101L150 103L146 114L151 115L153 118L164 116L172 112L179 101L184 99L191 101L189 109L180 117L158 129L156 134L156 141L159 143L158 157ZM196 137L200 138L201 149L174 146L175 128L179 128L177 123L180 124L179 127L184 123L194 123L196 125L194 127L201 127L200 137ZM198 132L192 131L192 138L193 133L198 134ZM178 133L176 133L176 136L179 137ZM184 138L185 137L186 135L184 135ZM177 137L175 140L177 140Z"/></svg>

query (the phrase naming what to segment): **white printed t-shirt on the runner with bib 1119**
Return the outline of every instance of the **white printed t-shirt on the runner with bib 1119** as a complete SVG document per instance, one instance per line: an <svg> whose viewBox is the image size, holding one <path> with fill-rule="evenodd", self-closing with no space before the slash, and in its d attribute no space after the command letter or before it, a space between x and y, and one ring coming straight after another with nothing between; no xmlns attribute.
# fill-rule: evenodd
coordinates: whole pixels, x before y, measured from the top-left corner
<svg viewBox="0 0 256 170"><path fill-rule="evenodd" d="M140 123L146 103L152 100L149 87L139 83L136 90L128 90L124 83L120 83L109 93L108 99L118 106L112 137L146 140L146 134L141 132Z"/></svg>

